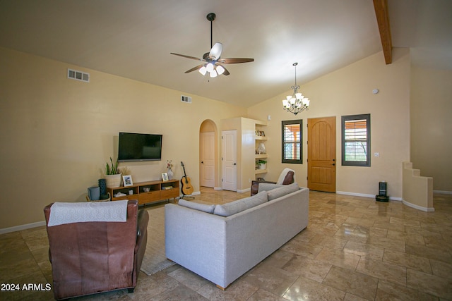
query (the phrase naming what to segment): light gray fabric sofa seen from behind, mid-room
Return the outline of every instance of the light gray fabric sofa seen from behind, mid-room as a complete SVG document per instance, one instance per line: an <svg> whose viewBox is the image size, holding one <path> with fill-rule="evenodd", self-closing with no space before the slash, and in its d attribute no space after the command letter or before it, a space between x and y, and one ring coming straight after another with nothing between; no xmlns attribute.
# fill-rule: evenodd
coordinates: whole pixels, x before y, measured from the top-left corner
<svg viewBox="0 0 452 301"><path fill-rule="evenodd" d="M223 205L166 204L167 258L225 289L307 227L308 188L260 190Z"/></svg>

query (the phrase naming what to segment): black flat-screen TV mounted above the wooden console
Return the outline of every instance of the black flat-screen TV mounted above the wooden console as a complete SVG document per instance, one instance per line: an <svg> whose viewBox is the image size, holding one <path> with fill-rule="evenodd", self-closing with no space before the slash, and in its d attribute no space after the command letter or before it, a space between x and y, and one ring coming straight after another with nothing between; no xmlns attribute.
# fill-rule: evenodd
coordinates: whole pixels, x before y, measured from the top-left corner
<svg viewBox="0 0 452 301"><path fill-rule="evenodd" d="M119 133L118 161L159 161L162 135Z"/></svg>

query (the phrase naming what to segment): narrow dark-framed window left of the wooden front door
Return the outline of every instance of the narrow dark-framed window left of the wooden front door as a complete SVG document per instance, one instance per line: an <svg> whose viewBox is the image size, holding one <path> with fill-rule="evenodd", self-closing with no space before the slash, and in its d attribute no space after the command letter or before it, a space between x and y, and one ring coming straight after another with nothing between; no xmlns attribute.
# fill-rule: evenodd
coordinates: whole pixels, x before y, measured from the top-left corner
<svg viewBox="0 0 452 301"><path fill-rule="evenodd" d="M295 121L282 121L283 163L303 163L302 124L302 119Z"/></svg>

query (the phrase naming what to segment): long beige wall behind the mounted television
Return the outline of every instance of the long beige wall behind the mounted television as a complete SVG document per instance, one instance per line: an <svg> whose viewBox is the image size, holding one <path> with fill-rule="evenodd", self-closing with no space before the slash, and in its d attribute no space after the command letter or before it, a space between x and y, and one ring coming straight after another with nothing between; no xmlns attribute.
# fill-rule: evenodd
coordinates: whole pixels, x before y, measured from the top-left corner
<svg viewBox="0 0 452 301"><path fill-rule="evenodd" d="M162 161L128 166L134 182L156 180L172 159L184 161L199 190L199 130L204 120L246 110L179 91L0 48L0 229L44 220L50 202L83 201L97 185L120 131L163 135ZM67 68L90 82L66 78Z"/></svg>

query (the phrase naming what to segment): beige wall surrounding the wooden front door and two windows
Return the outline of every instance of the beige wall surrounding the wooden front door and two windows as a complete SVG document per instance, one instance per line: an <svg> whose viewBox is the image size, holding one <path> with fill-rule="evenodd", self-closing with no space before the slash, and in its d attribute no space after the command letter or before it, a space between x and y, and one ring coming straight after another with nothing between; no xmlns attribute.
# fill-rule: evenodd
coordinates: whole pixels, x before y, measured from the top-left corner
<svg viewBox="0 0 452 301"><path fill-rule="evenodd" d="M290 83L288 84L288 86ZM379 89L378 94L372 90ZM378 183L388 182L388 195L402 197L402 162L410 159L410 54L393 49L393 63L385 65L379 52L362 61L301 85L311 99L309 111L297 116L283 111L278 97L249 108L249 118L266 120L268 169L266 180L277 180L285 167L295 170L299 185L307 185L307 118L336 116L336 158L338 192L378 194ZM341 166L340 116L371 114L371 167ZM303 164L281 164L281 121L303 119ZM379 157L374 157L379 152Z"/></svg>

